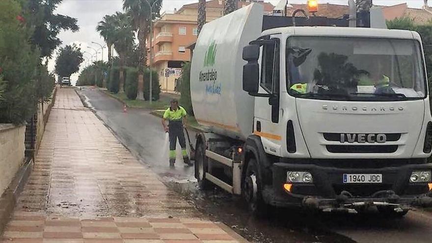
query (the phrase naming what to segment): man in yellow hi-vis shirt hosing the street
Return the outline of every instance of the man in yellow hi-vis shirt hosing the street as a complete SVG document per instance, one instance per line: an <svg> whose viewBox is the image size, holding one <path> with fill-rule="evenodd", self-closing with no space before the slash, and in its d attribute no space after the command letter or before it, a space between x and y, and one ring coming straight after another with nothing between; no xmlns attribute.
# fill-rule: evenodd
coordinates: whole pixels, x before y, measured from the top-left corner
<svg viewBox="0 0 432 243"><path fill-rule="evenodd" d="M180 146L182 147L183 162L191 165L188 152L186 151L186 139L183 133L183 127L186 126L186 110L179 106L176 99L171 100L170 107L165 110L162 117L162 125L165 132L169 134L169 166L174 167L176 159L176 143L179 138ZM166 120L169 125L166 125Z"/></svg>

